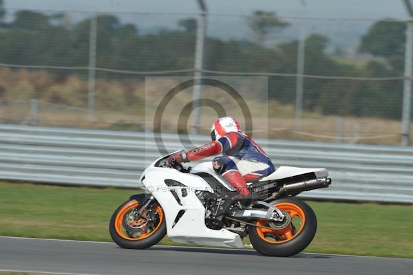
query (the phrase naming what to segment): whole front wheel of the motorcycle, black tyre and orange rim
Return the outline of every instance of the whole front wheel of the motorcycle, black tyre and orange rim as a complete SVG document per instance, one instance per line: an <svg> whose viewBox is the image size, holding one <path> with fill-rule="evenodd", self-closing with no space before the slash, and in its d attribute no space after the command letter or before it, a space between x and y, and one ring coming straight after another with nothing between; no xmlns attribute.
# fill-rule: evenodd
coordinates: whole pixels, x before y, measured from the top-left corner
<svg viewBox="0 0 413 275"><path fill-rule="evenodd" d="M109 233L121 248L145 249L158 243L167 234L165 214L157 201L145 210L140 207L145 194L134 196L116 209L109 223Z"/></svg>

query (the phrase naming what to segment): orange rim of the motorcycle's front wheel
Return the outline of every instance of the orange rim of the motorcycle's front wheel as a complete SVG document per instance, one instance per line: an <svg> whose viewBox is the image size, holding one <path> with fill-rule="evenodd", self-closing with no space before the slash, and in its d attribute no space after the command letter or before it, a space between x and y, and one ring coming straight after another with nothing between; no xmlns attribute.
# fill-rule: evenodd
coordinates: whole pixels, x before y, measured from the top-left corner
<svg viewBox="0 0 413 275"><path fill-rule="evenodd" d="M125 228L123 227L123 221L125 219L125 214L128 214L130 210L132 210L133 208L136 208L138 204L139 204L138 201L131 201L127 203L125 206L123 206L123 208L121 208L118 214L116 215L115 230L116 230L116 233L118 233L118 235L121 236L123 239L127 239L129 241L138 241L138 240L146 239L147 237L151 236L153 233L158 231L158 229L160 228L160 225L162 224L163 211L160 206L156 206L156 213L158 214L158 217L159 217L159 221L156 224L156 227L153 228L152 230L141 231L139 236L136 236L136 237L128 236L126 234Z"/></svg>

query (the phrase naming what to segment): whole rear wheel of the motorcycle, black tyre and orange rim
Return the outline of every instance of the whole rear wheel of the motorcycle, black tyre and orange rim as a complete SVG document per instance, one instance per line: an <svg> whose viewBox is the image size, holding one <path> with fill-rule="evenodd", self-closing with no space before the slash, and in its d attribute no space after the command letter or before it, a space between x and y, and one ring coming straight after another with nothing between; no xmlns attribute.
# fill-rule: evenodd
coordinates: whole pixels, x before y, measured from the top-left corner
<svg viewBox="0 0 413 275"><path fill-rule="evenodd" d="M313 209L304 201L295 198L270 202L284 214L284 222L275 223L263 219L248 228L251 244L266 256L288 257L303 251L313 241L317 231L317 218ZM273 229L274 228L274 229Z"/></svg>

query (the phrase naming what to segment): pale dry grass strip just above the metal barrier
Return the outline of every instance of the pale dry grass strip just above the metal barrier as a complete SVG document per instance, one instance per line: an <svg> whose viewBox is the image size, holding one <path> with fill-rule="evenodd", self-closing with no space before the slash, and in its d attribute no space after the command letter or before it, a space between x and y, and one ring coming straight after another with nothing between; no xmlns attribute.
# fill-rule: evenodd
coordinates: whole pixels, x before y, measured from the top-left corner
<svg viewBox="0 0 413 275"><path fill-rule="evenodd" d="M280 106L277 102L269 102L271 112L279 114L293 113L293 106ZM258 107L257 107L258 108ZM202 134L209 135L211 124L216 118L216 114L203 111L200 128ZM176 110L171 113L179 113ZM229 112L231 113L231 112ZM143 121L152 122L145 118L145 115L118 112L98 112L94 122L87 122L87 111L76 109L46 108L39 109L39 126L63 126L87 129L106 129L121 131L145 131ZM234 115L241 118L242 116ZM0 123L30 124L30 108L27 104L19 106L10 105L0 108ZM165 128L163 133L176 133L176 115L165 116ZM281 140L304 140L316 142L336 142L337 135L342 138L342 143L354 144L380 144L399 146L401 142L401 122L395 120L385 120L379 118L353 118L347 117L341 120L341 134L337 132L339 119L335 116L321 116L317 113L305 113L301 121L301 130L295 131L295 119L292 115L286 117L272 114L269 118L254 116L255 131L253 137L262 137ZM190 127L190 126L189 126ZM268 130L269 128L269 130ZM150 127L149 127L150 129ZM248 133L251 135L251 133ZM412 133L413 136L413 133Z"/></svg>

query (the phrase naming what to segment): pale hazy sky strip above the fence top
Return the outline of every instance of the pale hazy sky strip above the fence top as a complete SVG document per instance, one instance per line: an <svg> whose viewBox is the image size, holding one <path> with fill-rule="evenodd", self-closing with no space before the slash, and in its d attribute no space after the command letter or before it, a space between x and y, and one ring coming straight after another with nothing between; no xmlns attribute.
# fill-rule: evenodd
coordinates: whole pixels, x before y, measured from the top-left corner
<svg viewBox="0 0 413 275"><path fill-rule="evenodd" d="M206 0L216 13L272 10L279 16L404 19L402 0ZM301 2L306 2L304 7ZM5 0L6 8L103 12L193 12L195 0Z"/></svg>

